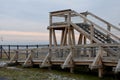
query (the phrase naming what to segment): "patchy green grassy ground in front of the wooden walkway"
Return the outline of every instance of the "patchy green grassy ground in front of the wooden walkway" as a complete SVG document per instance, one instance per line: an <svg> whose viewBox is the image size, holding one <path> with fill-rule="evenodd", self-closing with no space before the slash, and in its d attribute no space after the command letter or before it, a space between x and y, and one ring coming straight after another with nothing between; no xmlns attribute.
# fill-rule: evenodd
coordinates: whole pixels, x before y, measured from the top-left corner
<svg viewBox="0 0 120 80"><path fill-rule="evenodd" d="M100 79L96 75L87 73L71 74L61 70L49 71L48 69L39 68L22 68L22 70L0 68L0 77L5 77L10 80L115 80L112 77Z"/></svg>

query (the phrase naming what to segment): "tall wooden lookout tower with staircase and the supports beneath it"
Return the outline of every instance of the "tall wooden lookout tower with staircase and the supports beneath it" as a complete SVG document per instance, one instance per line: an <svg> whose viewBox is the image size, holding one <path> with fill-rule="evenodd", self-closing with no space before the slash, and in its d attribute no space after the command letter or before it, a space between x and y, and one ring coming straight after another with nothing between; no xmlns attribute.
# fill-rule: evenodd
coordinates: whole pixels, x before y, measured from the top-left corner
<svg viewBox="0 0 120 80"><path fill-rule="evenodd" d="M120 31L116 26L90 12L78 13L71 9L50 12L49 17L49 59L51 60L53 53L59 52L58 56L62 57L59 60L65 57L62 68L70 67L72 72L75 65L89 65L91 69L97 68L101 77L103 65L113 66L116 61L115 65L119 63L119 57L117 60L115 57L120 54L120 38L111 32L112 29ZM103 25L88 17L98 20ZM106 63L111 61L111 58L113 62ZM104 62L105 59L107 61Z"/></svg>

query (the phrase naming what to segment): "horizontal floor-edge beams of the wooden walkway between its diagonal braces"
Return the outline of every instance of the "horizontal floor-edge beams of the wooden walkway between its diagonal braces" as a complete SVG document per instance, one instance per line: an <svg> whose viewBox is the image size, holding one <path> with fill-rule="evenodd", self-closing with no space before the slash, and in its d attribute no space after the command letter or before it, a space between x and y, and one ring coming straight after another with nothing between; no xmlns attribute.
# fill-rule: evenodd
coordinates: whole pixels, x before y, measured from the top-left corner
<svg viewBox="0 0 120 80"><path fill-rule="evenodd" d="M88 59L74 59L73 63L74 63L74 65L78 65L78 66L79 65L90 65L93 63L93 61L94 61L94 59L92 59L92 58L91 59L90 58L88 58ZM12 63L14 63L14 62L15 61L13 61ZM25 62L25 59L18 60L17 62L19 64L23 64ZM32 60L33 65L34 64L39 65L39 64L42 64L42 62L43 62L43 60L41 60L41 59L33 59ZM53 59L50 62L51 62L51 65L62 65L65 62L65 60L64 59ZM117 65L117 62L118 61L116 61L116 60L110 60L110 59L103 59L103 61L102 61L103 65L113 66L113 67L115 67Z"/></svg>

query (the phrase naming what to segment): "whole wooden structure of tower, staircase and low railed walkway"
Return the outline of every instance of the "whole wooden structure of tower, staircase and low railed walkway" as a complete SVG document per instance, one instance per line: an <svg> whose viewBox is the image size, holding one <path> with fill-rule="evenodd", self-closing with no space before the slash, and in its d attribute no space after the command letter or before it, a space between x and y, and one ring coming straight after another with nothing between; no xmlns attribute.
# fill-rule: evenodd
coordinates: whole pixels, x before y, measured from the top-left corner
<svg viewBox="0 0 120 80"><path fill-rule="evenodd" d="M58 65L69 68L71 73L76 66L87 66L98 70L99 77L103 76L105 67L115 73L120 71L120 38L112 33L112 29L120 32L118 27L93 13L71 9L50 12L49 24L49 47L15 50L9 63Z"/></svg>

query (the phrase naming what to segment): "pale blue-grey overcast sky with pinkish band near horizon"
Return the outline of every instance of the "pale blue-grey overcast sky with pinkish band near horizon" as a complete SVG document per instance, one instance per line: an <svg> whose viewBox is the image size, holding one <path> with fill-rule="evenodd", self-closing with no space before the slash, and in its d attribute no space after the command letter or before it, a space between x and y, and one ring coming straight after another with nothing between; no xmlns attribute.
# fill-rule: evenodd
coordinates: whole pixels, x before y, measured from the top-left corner
<svg viewBox="0 0 120 80"><path fill-rule="evenodd" d="M63 9L120 23L120 0L0 0L0 37L6 42L48 41L49 12Z"/></svg>

